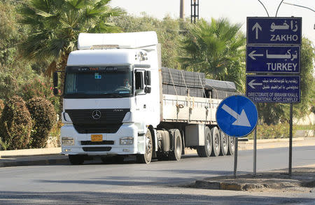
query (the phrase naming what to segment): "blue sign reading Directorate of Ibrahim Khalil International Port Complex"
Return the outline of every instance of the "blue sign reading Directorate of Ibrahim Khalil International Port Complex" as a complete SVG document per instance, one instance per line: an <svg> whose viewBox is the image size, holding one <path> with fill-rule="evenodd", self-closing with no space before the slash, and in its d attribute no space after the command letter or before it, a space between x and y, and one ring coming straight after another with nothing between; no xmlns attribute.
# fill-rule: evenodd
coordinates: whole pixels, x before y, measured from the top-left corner
<svg viewBox="0 0 315 205"><path fill-rule="evenodd" d="M254 102L300 102L300 76L246 76L246 96Z"/></svg>

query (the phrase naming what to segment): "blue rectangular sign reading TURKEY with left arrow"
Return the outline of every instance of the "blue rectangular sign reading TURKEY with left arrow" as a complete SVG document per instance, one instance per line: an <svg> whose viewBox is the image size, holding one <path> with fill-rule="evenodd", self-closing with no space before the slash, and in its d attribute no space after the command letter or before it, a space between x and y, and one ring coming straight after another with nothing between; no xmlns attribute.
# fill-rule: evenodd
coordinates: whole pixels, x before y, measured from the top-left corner
<svg viewBox="0 0 315 205"><path fill-rule="evenodd" d="M300 73L300 47L248 45L246 72Z"/></svg>

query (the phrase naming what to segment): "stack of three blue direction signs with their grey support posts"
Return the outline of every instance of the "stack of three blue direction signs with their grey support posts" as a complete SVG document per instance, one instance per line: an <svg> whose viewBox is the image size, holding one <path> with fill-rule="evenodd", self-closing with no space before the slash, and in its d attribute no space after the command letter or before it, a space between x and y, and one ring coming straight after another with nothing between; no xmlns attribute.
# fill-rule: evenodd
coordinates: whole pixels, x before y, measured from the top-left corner
<svg viewBox="0 0 315 205"><path fill-rule="evenodd" d="M265 75L246 76L246 96L256 103L290 103L289 176L293 103L300 102L300 75L292 74L300 73L301 43L302 17L247 17L246 72ZM281 73L281 76L270 76L270 73ZM254 174L255 160L254 153Z"/></svg>

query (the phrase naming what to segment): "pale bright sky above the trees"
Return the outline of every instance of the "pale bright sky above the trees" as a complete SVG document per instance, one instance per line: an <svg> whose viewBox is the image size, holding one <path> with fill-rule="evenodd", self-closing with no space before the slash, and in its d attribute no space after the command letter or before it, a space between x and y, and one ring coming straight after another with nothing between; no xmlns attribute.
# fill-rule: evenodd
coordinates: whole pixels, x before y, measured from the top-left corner
<svg viewBox="0 0 315 205"><path fill-rule="evenodd" d="M260 0L270 17L276 15L276 9L281 0ZM200 17L210 21L225 17L232 23L242 24L241 31L246 34L246 17L267 17L267 13L258 0L200 0ZM315 0L284 0L315 10ZM112 0L111 6L120 7L127 13L141 16L146 12L152 17L162 19L165 15L179 18L180 0ZM185 17L190 17L190 0L184 0ZM315 45L315 12L307 8L290 6L282 3L278 17L302 17L302 36L309 38Z"/></svg>

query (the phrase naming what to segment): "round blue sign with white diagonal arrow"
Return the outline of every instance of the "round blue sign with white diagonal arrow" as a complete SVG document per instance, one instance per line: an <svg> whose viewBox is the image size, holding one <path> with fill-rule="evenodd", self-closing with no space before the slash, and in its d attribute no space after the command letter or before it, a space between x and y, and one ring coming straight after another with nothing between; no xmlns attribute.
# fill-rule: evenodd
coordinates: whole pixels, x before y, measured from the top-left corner
<svg viewBox="0 0 315 205"><path fill-rule="evenodd" d="M258 121L255 104L242 95L227 97L216 111L218 127L229 136L241 137L250 134Z"/></svg>

